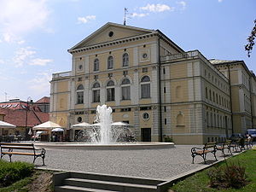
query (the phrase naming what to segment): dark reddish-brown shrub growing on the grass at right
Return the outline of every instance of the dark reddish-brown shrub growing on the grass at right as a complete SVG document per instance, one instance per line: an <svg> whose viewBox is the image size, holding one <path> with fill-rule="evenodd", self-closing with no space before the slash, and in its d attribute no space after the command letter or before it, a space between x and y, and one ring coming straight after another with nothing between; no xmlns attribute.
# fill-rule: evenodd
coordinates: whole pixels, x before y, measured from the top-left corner
<svg viewBox="0 0 256 192"><path fill-rule="evenodd" d="M230 166L226 163L226 166L215 167L207 175L210 178L210 186L212 188L240 189L247 184L245 167L239 163L238 165L232 163Z"/></svg>

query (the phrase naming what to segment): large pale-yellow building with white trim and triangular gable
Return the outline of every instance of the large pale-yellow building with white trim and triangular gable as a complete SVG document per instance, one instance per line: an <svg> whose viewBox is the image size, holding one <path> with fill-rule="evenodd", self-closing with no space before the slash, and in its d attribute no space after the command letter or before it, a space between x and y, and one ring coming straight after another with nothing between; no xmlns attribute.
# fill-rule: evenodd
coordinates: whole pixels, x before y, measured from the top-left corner
<svg viewBox="0 0 256 192"><path fill-rule="evenodd" d="M50 82L50 120L63 127L92 124L96 106L107 104L113 121L134 125L138 141L172 137L174 143L201 144L232 133L235 100L228 76L200 51L183 51L159 30L107 23L68 52L72 70L54 73ZM255 79L252 84L256 98ZM249 127L252 115L244 114Z"/></svg>

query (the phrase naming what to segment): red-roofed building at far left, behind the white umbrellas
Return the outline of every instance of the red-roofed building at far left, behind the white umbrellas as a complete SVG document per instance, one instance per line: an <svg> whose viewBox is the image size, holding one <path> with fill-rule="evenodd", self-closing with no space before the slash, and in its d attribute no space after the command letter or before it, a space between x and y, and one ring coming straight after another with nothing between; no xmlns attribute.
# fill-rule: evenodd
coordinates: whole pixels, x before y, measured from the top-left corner
<svg viewBox="0 0 256 192"><path fill-rule="evenodd" d="M0 113L4 113L4 121L16 125L15 129L4 129L0 135L21 135L29 137L29 130L49 120L49 113L44 113L32 101L23 102L19 99L0 102Z"/></svg>

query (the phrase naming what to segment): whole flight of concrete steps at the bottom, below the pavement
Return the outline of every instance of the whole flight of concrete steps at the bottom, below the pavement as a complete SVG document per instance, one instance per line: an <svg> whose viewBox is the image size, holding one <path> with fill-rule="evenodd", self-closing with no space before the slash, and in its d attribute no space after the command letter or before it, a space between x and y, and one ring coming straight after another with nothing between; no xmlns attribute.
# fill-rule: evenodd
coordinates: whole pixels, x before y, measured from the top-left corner
<svg viewBox="0 0 256 192"><path fill-rule="evenodd" d="M55 192L80 192L80 191L131 191L131 192L160 192L164 180L102 175L83 172L55 173Z"/></svg>

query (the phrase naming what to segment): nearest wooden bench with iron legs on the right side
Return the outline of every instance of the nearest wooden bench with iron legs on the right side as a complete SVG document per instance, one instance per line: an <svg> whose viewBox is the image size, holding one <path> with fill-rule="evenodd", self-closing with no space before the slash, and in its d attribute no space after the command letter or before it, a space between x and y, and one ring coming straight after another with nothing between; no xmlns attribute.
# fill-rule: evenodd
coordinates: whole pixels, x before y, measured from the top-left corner
<svg viewBox="0 0 256 192"><path fill-rule="evenodd" d="M194 164L194 158L197 155L201 156L203 158L204 162L207 163L206 162L207 154L209 154L209 153L212 153L215 157L215 160L217 160L216 151L217 151L217 148L216 148L215 142L206 143L203 148L198 148L198 147L191 148L191 156L193 158L192 163Z"/></svg>

